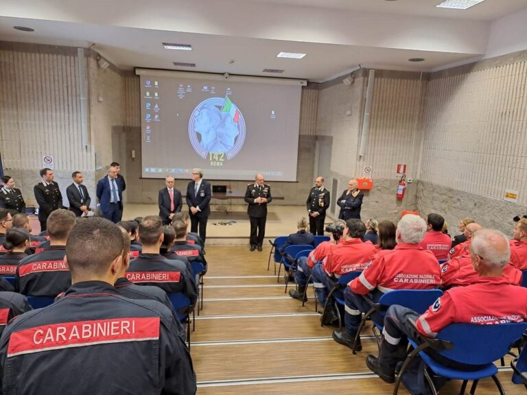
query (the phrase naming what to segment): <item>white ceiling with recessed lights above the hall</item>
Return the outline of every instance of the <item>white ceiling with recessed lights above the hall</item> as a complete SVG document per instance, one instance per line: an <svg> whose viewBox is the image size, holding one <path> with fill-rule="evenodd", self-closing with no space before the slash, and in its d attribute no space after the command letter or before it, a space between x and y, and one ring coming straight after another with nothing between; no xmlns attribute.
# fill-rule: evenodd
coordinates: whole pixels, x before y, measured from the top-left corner
<svg viewBox="0 0 527 395"><path fill-rule="evenodd" d="M491 19L527 0L486 0L441 10L441 0L2 0L0 40L89 47L122 69L189 71L328 80L363 67L430 71L482 56ZM104 12L103 12L104 11ZM419 17L418 17L419 15ZM19 32L14 25L35 32ZM161 43L193 51L169 51ZM279 59L279 51L307 53ZM408 58L425 58L410 63ZM235 60L234 64L229 64Z"/></svg>

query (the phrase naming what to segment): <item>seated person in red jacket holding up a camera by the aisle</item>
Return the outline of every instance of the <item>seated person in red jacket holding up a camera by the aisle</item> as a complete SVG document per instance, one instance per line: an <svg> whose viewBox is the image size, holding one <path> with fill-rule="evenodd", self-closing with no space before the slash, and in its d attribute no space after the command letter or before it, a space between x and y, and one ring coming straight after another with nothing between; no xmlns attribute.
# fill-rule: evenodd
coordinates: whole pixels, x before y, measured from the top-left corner
<svg viewBox="0 0 527 395"><path fill-rule="evenodd" d="M294 272L294 282L298 289L291 289L289 291L289 296L291 296L291 298L303 302L307 300L307 297L305 296L305 287L307 287L307 280L311 276L314 265L323 261L323 259L326 259L335 248L338 248L338 241L340 240L340 237L342 237L342 232L344 232L345 227L346 222L342 221L342 219L337 219L333 226L327 226L326 228L326 232L331 233L331 240L323 241L318 244L312 252L309 252L309 256L301 256L301 258L298 259L296 272Z"/></svg>

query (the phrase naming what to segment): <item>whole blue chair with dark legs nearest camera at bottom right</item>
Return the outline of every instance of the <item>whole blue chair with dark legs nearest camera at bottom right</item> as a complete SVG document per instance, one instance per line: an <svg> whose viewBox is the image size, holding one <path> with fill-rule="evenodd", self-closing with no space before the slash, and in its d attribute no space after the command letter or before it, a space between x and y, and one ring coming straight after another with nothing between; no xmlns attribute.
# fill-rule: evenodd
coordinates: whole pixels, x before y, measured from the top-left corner
<svg viewBox="0 0 527 395"><path fill-rule="evenodd" d="M406 368L416 355L419 355L425 362L425 379L434 395L438 392L432 375L445 379L462 380L460 394L465 393L469 381L473 381L470 390L473 394L476 392L478 381L491 377L497 390L504 395L500 380L496 377L497 368L493 362L506 355L511 344L522 337L522 333L527 329L527 322L495 325L450 324L438 333L436 339L421 335L417 332L415 324L413 322L412 324L415 333L408 340L414 350L410 352L397 375L394 395L399 390ZM463 364L467 368L447 367L424 352L425 350L434 350L441 357Z"/></svg>

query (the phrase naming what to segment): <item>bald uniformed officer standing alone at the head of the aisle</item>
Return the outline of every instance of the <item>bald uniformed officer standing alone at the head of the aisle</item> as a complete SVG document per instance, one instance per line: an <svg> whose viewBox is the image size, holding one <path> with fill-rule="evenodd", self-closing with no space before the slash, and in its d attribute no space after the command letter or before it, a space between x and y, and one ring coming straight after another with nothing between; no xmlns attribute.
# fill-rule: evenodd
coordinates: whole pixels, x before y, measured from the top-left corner
<svg viewBox="0 0 527 395"><path fill-rule="evenodd" d="M258 248L264 243L266 235L267 204L272 200L271 187L264 184L264 176L257 174L255 182L247 184L245 201L249 204L247 213L250 221L250 250Z"/></svg>

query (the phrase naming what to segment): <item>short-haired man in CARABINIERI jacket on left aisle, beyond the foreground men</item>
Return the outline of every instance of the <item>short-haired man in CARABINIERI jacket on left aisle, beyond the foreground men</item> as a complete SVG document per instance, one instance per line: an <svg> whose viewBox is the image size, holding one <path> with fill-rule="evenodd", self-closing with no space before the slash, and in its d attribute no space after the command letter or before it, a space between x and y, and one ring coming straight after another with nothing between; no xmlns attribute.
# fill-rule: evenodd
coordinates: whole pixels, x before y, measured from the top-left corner
<svg viewBox="0 0 527 395"><path fill-rule="evenodd" d="M195 304L198 291L192 273L181 261L172 261L159 254L163 222L158 215L144 217L137 239L143 244L143 251L130 261L126 278L134 284L160 287L168 294L182 292L191 304Z"/></svg>

